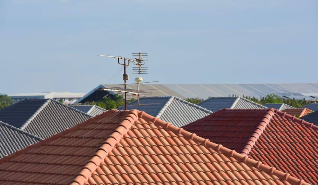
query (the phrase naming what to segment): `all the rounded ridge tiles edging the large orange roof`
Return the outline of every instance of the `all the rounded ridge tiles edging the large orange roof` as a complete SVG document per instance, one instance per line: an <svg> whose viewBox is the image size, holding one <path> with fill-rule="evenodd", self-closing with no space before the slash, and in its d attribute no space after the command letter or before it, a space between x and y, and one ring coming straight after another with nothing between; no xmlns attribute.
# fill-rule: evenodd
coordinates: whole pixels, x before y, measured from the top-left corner
<svg viewBox="0 0 318 185"><path fill-rule="evenodd" d="M42 140L34 145L31 145L25 149L22 149L20 151L17 151L16 153L12 155L8 155L0 160L0 163L7 161L13 157L16 157L17 155L21 155L27 151L29 151L32 148L37 148L47 142L50 142L52 140L57 139L58 137L64 136L72 131L75 131L79 127L83 127L87 124L93 123L93 122L109 122L112 120L115 116L121 116L121 122L117 125L116 129L112 131L112 133L105 139L104 142L100 145L100 147L97 149L95 154L90 158L90 160L87 161L85 166L82 168L82 170L75 176L71 184L82 184L83 182L86 182L88 178L92 175L92 173L95 171L95 169L100 165L100 163L104 160L104 158L108 155L110 151L115 147L116 143L118 143L122 136L128 132L128 130L131 128L133 124L138 119L143 119L149 124L154 124L158 128L162 128L165 131L171 131L176 135L181 135L187 140L192 140L193 142L197 142L205 146L206 148L211 148L217 153L222 153L222 155L225 155L226 157L233 157L238 162L244 162L249 167L254 167L259 170L265 171L266 173L270 173L272 175L277 176L279 179L286 180L287 182L291 184L302 184L304 183L303 180L297 179L293 176L291 176L288 173L284 173L282 171L276 170L274 167L267 166L265 164L262 164L262 162L255 161L251 158L249 158L246 155L242 155L237 153L235 150L231 150L228 148L223 147L220 144L216 144L213 142L210 142L208 139L204 139L200 136L197 136L196 134L190 133L182 128L178 128L176 126L173 126L169 122L164 122L160 120L158 117L151 116L145 112L141 112L139 110L125 110L125 111L118 111L118 110L109 110L101 115L98 115L94 118L90 118L89 120L79 123L78 125L74 126L73 128L66 129L65 131L53 135L52 137Z"/></svg>

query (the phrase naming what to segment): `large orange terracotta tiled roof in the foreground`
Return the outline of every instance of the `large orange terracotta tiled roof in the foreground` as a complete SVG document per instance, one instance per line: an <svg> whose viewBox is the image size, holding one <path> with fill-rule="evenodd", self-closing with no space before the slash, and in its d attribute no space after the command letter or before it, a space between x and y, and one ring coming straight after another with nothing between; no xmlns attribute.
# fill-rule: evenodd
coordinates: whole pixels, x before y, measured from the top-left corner
<svg viewBox="0 0 318 185"><path fill-rule="evenodd" d="M138 110L107 111L4 157L0 182L307 184Z"/></svg>

